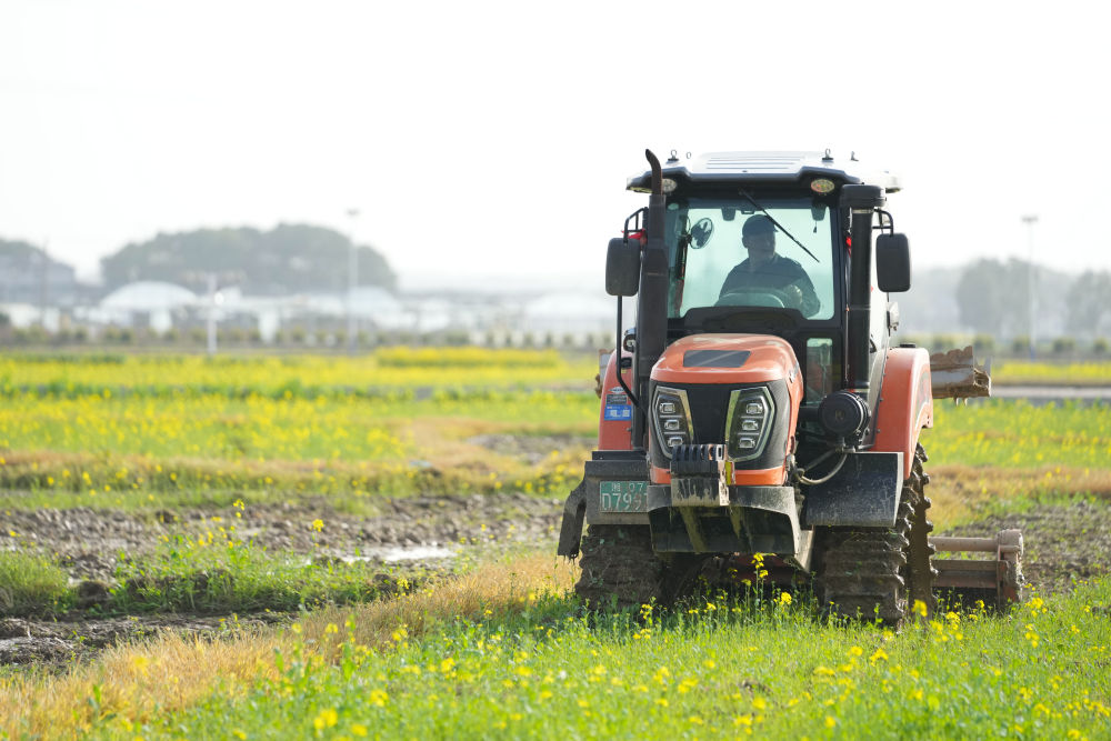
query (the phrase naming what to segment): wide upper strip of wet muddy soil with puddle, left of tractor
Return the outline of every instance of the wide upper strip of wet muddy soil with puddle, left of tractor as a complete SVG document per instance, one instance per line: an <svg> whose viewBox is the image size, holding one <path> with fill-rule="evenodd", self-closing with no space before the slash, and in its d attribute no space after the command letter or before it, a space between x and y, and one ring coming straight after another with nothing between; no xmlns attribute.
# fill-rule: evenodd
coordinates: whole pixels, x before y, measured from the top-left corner
<svg viewBox="0 0 1111 741"><path fill-rule="evenodd" d="M234 538L270 552L389 561L421 547L534 541L554 533L561 507L558 499L506 493L384 500L377 517L338 511L326 499L242 511L7 510L0 512L0 549L40 551L59 560L73 579L111 581L121 555L139 558L166 539L233 527Z"/></svg>

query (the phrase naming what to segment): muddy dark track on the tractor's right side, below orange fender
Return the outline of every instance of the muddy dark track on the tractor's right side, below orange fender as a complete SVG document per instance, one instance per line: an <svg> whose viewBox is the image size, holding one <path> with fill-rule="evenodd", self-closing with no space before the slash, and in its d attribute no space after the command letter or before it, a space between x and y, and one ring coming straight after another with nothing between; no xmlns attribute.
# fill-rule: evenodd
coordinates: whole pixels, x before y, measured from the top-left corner
<svg viewBox="0 0 1111 741"><path fill-rule="evenodd" d="M912 614L915 602L927 614L934 610L937 571L931 564L933 523L927 517L925 460L919 445L903 482L894 528L830 528L821 533L814 591L827 615L898 627Z"/></svg>

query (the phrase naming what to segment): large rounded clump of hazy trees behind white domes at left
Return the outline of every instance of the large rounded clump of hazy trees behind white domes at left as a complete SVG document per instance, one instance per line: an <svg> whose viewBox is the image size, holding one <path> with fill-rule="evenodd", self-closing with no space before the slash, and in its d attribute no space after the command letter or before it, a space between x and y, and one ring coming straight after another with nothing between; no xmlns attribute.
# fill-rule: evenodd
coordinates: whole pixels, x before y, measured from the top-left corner
<svg viewBox="0 0 1111 741"><path fill-rule="evenodd" d="M102 259L101 268L109 290L158 280L203 293L208 277L216 274L220 286L274 296L346 289L350 249L344 234L308 224L279 224L266 232L250 227L200 229L128 244ZM356 254L360 286L397 287L397 276L379 252L357 247Z"/></svg>

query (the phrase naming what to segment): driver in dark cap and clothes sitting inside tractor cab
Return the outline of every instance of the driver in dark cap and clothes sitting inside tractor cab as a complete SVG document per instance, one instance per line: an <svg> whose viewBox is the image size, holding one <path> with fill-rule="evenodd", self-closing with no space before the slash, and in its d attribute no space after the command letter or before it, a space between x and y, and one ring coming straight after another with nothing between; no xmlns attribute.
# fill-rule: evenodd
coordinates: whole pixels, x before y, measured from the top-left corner
<svg viewBox="0 0 1111 741"><path fill-rule="evenodd" d="M741 244L749 251L747 260L729 271L721 293L773 291L783 294L787 306L804 317L818 313L822 303L814 292L810 276L791 258L775 254L775 224L762 213L749 217L741 227Z"/></svg>

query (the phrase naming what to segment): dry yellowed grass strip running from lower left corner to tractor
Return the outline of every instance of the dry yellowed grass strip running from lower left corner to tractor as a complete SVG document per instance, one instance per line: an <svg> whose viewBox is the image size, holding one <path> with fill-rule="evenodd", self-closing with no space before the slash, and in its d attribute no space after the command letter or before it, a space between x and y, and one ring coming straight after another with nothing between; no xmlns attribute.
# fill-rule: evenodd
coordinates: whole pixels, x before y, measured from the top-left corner
<svg viewBox="0 0 1111 741"><path fill-rule="evenodd" d="M458 619L508 619L534 602L530 593L562 593L570 584L568 565L553 563L549 554L516 558L479 565L434 590L346 612L309 613L291 630L230 630L216 639L166 633L108 649L96 662L72 665L60 674L43 670L0 674L0 738L86 734L106 719L121 729L202 701L242 697L259 682L280 677L274 660L279 652L290 654L299 644L323 647L322 639L337 634L331 627L349 615L362 644L380 650L396 643L401 627L407 637L420 639ZM326 654L320 655L322 661ZM226 737L227 730L216 735Z"/></svg>

